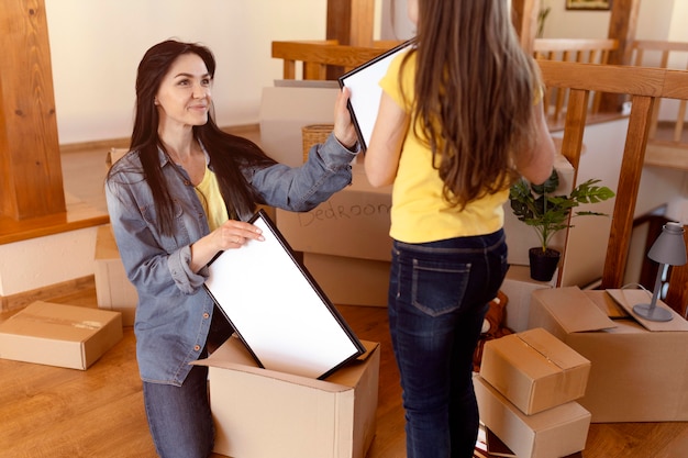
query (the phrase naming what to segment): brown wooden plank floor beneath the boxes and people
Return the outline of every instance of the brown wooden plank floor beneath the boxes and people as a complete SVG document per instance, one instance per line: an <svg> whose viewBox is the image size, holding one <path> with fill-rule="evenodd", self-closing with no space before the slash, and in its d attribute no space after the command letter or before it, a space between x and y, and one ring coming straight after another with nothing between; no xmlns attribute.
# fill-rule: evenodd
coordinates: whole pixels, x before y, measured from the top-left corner
<svg viewBox="0 0 688 458"><path fill-rule="evenodd" d="M95 286L51 301L96 306ZM359 338L381 344L377 434L367 458L403 458L401 390L386 310L337 309ZM582 456L688 457L688 423L592 424ZM130 327L86 371L0 359L0 458L19 457L155 457Z"/></svg>

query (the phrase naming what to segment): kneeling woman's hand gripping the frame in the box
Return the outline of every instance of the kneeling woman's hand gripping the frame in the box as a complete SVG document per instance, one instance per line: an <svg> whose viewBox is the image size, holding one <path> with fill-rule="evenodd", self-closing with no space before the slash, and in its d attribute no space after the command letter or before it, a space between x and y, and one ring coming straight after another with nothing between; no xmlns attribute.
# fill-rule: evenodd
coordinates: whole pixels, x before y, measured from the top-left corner
<svg viewBox="0 0 688 458"><path fill-rule="evenodd" d="M241 248L248 241L265 241L263 231L251 223L229 220L191 245L191 270L198 272L219 252Z"/></svg>

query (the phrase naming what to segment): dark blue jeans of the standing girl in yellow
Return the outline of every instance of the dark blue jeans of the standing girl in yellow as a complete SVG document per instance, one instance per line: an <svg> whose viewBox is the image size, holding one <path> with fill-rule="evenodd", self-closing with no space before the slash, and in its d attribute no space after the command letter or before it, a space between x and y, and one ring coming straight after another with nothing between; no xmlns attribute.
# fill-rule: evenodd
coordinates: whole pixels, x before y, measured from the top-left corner
<svg viewBox="0 0 688 458"><path fill-rule="evenodd" d="M507 269L503 231L395 241L388 313L408 458L473 457L479 424L473 354Z"/></svg>

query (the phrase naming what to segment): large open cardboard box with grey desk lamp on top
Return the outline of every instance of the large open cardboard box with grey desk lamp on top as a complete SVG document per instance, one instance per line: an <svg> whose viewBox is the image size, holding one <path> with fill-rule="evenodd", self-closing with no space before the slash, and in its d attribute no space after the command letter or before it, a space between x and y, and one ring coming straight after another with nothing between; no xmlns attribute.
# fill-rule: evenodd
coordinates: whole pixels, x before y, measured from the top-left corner
<svg viewBox="0 0 688 458"><path fill-rule="evenodd" d="M530 325L544 327L591 362L578 402L592 422L688 421L687 331L652 332L618 315L606 291L536 290Z"/></svg>

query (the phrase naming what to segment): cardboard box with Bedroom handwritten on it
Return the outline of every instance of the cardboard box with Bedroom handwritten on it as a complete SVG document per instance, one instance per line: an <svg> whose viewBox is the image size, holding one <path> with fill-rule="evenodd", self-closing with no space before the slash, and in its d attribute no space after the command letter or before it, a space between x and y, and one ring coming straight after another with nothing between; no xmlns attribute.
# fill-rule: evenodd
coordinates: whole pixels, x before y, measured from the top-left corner
<svg viewBox="0 0 688 458"><path fill-rule="evenodd" d="M291 248L359 259L391 259L391 188L373 188L362 164L352 185L310 212L277 210L277 227Z"/></svg>

